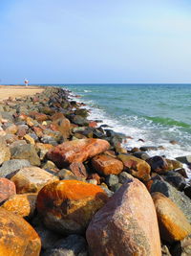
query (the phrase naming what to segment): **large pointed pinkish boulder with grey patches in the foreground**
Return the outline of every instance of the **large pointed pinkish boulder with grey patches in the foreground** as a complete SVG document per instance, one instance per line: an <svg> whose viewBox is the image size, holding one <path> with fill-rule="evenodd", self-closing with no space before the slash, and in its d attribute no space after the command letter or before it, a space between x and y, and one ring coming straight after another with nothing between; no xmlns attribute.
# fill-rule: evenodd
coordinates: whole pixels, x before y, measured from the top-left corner
<svg viewBox="0 0 191 256"><path fill-rule="evenodd" d="M155 207L138 179L129 179L96 213L86 239L92 256L161 255Z"/></svg>

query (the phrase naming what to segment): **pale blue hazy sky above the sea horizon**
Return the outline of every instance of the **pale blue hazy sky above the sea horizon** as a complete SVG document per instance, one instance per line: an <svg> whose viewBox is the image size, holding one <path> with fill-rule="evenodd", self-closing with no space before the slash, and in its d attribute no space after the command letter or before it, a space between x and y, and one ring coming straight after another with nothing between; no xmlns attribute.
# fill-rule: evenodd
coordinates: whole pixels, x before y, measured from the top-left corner
<svg viewBox="0 0 191 256"><path fill-rule="evenodd" d="M190 0L0 0L0 83L191 83Z"/></svg>

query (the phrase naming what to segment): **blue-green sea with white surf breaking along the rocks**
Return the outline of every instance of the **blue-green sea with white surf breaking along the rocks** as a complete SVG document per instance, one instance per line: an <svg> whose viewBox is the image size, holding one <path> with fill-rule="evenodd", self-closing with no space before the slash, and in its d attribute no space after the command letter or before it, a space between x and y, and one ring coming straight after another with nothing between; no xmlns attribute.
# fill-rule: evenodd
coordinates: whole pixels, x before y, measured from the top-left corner
<svg viewBox="0 0 191 256"><path fill-rule="evenodd" d="M123 145L127 149L162 146L162 150L149 154L170 159L191 155L191 84L58 85L87 105L89 119L102 120L100 125L131 137Z"/></svg>

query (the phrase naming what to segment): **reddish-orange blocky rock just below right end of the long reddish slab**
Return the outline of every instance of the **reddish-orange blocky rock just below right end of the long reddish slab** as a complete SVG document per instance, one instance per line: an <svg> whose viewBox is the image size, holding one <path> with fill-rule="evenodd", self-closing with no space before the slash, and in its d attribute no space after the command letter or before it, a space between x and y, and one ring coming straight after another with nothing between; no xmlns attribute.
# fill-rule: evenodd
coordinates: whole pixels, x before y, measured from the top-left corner
<svg viewBox="0 0 191 256"><path fill-rule="evenodd" d="M123 170L123 163L116 158L99 154L92 159L92 165L100 175L118 175Z"/></svg>

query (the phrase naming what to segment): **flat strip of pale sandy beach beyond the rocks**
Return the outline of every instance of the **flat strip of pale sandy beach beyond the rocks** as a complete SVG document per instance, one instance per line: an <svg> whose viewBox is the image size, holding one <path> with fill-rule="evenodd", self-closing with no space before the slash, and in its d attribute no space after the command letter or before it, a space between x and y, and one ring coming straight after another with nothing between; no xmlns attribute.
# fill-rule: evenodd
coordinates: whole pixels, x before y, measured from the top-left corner
<svg viewBox="0 0 191 256"><path fill-rule="evenodd" d="M35 93L41 93L44 90L37 86L22 86L22 85L0 85L0 100L6 100L9 97L19 98Z"/></svg>

